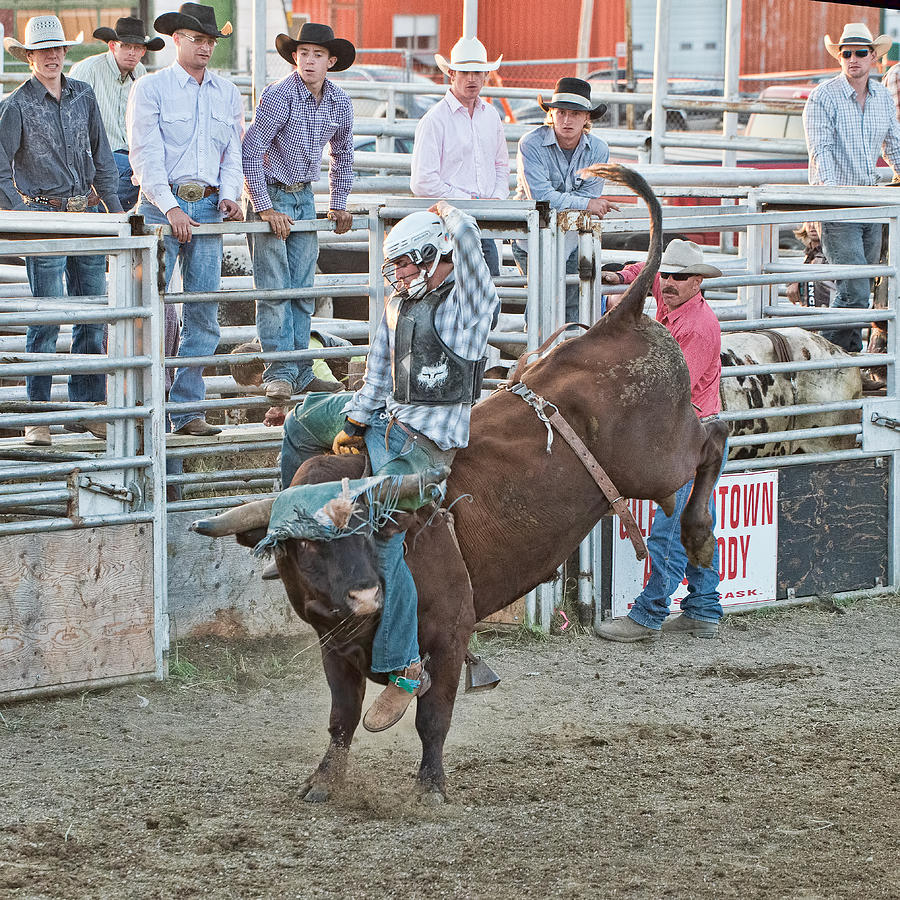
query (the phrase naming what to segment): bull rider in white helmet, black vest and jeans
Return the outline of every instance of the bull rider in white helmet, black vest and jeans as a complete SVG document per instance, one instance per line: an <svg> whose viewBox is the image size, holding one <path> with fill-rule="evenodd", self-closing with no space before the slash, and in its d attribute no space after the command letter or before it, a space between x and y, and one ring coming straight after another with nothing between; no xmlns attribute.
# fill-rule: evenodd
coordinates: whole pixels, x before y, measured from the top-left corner
<svg viewBox="0 0 900 900"><path fill-rule="evenodd" d="M284 487L303 462L328 450L365 450L376 475L402 475L449 466L469 442L499 307L478 226L440 200L391 229L384 258L385 278L395 290L372 341L363 386L349 400L345 393L311 393L288 415ZM375 537L384 604L371 668L388 673L388 684L363 717L369 731L395 725L431 685L419 656L418 596L403 558L404 535Z"/></svg>

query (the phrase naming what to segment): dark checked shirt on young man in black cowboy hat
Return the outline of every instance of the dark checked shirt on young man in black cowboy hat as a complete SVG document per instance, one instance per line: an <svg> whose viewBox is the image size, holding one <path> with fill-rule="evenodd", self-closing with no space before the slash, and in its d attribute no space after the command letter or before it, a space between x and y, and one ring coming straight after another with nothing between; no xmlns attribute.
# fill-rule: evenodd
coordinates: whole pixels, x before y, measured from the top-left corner
<svg viewBox="0 0 900 900"><path fill-rule="evenodd" d="M322 150L331 144L331 208L346 209L353 185L353 105L334 82L325 79L315 97L292 72L270 84L259 98L253 124L244 135L241 156L247 193L256 212L272 208L267 184L318 181Z"/></svg>

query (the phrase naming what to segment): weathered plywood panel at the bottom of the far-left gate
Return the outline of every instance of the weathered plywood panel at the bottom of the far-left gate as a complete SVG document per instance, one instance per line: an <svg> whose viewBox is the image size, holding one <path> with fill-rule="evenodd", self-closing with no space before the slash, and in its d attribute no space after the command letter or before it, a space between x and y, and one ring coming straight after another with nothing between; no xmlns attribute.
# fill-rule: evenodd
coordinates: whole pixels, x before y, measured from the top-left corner
<svg viewBox="0 0 900 900"><path fill-rule="evenodd" d="M0 537L0 699L153 672L150 525Z"/></svg>

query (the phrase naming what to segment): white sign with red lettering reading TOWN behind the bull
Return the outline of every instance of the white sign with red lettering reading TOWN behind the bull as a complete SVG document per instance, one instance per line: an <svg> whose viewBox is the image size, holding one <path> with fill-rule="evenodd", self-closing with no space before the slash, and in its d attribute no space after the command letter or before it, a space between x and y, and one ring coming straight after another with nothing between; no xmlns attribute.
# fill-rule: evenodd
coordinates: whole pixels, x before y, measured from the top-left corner
<svg viewBox="0 0 900 900"><path fill-rule="evenodd" d="M716 540L722 606L775 599L778 562L778 472L734 472L716 485ZM650 534L657 506L630 500L641 534ZM618 516L613 517L612 614L627 615L650 578L650 557L638 561ZM687 594L683 581L672 598L672 612Z"/></svg>

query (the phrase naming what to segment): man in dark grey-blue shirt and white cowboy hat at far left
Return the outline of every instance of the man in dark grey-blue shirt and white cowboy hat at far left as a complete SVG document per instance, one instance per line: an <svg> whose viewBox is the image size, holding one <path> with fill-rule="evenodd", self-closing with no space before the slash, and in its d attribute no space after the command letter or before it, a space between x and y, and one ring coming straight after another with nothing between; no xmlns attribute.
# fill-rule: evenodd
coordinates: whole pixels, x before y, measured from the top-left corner
<svg viewBox="0 0 900 900"><path fill-rule="evenodd" d="M25 41L5 39L6 49L31 67L31 78L0 104L0 208L31 212L121 212L119 176L100 109L90 86L62 74L67 41L56 16L34 16L25 25ZM102 205L101 205L102 204ZM106 293L106 257L30 256L28 283L35 297L100 296ZM63 287L65 276L66 288ZM76 324L73 353L104 353L103 325ZM29 326L29 353L53 353L58 325ZM50 399L49 375L26 379L29 400ZM69 399L102 403L106 376L71 375ZM84 431L81 425L69 430ZM106 436L103 422L87 426ZM25 443L50 444L50 428L25 429Z"/></svg>

